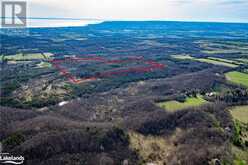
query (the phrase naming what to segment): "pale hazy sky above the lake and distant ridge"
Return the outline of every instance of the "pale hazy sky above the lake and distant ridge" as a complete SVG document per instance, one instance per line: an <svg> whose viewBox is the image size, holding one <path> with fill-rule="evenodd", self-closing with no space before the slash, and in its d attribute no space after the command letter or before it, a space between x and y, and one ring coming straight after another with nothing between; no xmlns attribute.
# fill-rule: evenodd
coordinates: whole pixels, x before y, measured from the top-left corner
<svg viewBox="0 0 248 165"><path fill-rule="evenodd" d="M30 17L248 22L248 0L27 0Z"/></svg>

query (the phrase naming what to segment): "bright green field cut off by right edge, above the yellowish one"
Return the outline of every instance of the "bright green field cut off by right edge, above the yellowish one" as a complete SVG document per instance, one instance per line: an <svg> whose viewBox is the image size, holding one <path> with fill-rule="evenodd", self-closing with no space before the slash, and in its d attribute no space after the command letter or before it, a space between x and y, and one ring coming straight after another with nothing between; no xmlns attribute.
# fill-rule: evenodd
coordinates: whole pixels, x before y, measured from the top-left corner
<svg viewBox="0 0 248 165"><path fill-rule="evenodd" d="M248 74L241 72L228 72L225 74L226 78L235 84L248 87Z"/></svg>

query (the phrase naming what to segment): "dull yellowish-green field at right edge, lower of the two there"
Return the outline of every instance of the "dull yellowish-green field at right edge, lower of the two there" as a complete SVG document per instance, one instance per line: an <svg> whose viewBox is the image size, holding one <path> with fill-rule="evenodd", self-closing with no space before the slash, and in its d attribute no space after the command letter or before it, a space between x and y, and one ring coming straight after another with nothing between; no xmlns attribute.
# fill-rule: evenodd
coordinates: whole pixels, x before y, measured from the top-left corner
<svg viewBox="0 0 248 165"><path fill-rule="evenodd" d="M237 106L231 109L231 114L235 120L248 123L248 106Z"/></svg>

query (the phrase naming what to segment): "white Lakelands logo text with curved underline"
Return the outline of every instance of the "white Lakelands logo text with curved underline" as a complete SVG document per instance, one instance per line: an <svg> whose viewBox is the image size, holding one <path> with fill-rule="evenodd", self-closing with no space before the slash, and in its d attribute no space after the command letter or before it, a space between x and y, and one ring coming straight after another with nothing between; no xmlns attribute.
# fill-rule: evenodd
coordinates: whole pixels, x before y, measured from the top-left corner
<svg viewBox="0 0 248 165"><path fill-rule="evenodd" d="M23 164L23 156L14 156L9 153L0 153L0 164Z"/></svg>

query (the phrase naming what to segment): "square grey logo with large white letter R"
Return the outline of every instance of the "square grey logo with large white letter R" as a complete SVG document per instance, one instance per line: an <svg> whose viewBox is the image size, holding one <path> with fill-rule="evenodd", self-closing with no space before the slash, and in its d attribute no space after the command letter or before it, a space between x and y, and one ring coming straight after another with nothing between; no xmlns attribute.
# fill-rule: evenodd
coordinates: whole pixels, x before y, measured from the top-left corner
<svg viewBox="0 0 248 165"><path fill-rule="evenodd" d="M2 27L26 27L27 3L25 1L3 1L1 6Z"/></svg>

